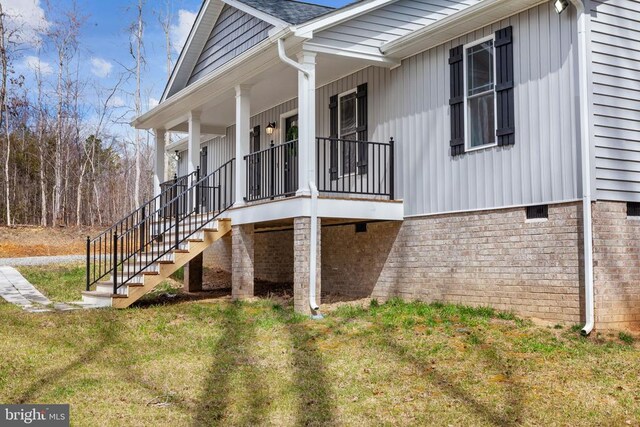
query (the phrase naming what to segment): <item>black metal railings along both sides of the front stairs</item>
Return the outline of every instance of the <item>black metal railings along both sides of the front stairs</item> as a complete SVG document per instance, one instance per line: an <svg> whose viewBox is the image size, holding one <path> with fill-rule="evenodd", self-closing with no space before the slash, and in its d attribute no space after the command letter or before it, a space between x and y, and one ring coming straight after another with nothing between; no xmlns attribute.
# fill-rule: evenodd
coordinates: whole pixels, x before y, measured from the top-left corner
<svg viewBox="0 0 640 427"><path fill-rule="evenodd" d="M200 177L174 180L160 195L87 239L87 290L108 275L113 293L215 220L234 202L234 159ZM184 178L184 177L182 177Z"/></svg>

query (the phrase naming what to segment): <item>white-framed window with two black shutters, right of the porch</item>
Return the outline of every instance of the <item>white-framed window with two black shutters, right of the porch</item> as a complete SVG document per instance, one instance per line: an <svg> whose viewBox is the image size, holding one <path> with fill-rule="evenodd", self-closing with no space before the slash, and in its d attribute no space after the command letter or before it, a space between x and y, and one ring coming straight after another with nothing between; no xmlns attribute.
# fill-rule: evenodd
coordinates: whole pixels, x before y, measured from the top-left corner
<svg viewBox="0 0 640 427"><path fill-rule="evenodd" d="M449 52L451 155L515 143L513 30Z"/></svg>

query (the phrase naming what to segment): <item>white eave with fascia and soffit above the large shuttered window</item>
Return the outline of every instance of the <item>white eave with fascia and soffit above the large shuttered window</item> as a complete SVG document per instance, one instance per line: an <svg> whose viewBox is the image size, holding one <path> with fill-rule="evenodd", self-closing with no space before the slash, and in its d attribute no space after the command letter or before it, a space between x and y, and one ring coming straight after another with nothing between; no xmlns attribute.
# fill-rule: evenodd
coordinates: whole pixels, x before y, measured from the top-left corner
<svg viewBox="0 0 640 427"><path fill-rule="evenodd" d="M447 40L436 39L435 36L451 30L453 25L478 22L482 17L490 15L492 12L499 13L500 17L492 19L490 22L474 25L473 28L465 29L464 33L466 33L546 2L547 0L483 0L406 36L383 44L380 47L380 52L383 55L404 59L445 43ZM457 33L448 37L448 40L460 37L464 33Z"/></svg>

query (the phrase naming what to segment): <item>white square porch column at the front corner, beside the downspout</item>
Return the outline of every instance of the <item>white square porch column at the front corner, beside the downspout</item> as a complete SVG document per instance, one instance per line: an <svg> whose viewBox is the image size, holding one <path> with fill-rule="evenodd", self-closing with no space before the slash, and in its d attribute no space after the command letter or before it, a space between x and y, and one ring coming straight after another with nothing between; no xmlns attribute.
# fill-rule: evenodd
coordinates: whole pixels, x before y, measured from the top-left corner
<svg viewBox="0 0 640 427"><path fill-rule="evenodd" d="M302 51L298 62L298 191L309 194L309 182L316 180L316 54Z"/></svg>

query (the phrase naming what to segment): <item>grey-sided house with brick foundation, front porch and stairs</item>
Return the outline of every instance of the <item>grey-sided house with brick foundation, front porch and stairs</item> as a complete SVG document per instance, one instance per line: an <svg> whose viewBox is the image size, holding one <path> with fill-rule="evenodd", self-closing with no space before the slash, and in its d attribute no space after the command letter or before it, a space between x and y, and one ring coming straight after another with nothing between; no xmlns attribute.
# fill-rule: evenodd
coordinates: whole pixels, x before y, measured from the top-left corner
<svg viewBox="0 0 640 427"><path fill-rule="evenodd" d="M133 122L158 197L88 242L85 298L185 263L197 288L204 253L234 297L293 282L304 313L339 293L638 327L638 22L632 0L206 0Z"/></svg>

